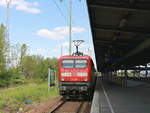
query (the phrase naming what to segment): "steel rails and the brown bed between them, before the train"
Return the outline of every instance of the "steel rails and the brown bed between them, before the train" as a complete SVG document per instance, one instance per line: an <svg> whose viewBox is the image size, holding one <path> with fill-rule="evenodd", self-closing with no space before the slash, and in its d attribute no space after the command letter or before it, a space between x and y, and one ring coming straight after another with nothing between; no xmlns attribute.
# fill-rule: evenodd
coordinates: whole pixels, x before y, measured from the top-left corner
<svg viewBox="0 0 150 113"><path fill-rule="evenodd" d="M81 111L86 103L88 102L61 101L49 113L84 113Z"/></svg>

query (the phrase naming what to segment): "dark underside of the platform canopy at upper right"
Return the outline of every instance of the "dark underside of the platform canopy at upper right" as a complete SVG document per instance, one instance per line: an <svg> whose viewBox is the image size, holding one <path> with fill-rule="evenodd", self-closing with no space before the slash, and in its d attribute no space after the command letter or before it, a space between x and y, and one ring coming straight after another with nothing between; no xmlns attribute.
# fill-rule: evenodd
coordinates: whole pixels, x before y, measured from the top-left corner
<svg viewBox="0 0 150 113"><path fill-rule="evenodd" d="M150 62L150 0L87 0L98 70Z"/></svg>

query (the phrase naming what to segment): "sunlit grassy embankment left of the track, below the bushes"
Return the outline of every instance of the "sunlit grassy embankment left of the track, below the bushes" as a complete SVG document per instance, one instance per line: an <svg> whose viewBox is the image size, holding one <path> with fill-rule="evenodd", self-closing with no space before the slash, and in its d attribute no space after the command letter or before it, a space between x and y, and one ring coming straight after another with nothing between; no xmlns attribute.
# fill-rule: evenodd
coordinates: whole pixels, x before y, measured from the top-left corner
<svg viewBox="0 0 150 113"><path fill-rule="evenodd" d="M21 105L26 103L26 100L31 100L32 104L36 104L56 96L58 96L58 89L54 88L48 92L47 83L32 83L14 88L1 89L0 113L3 113L4 110L14 113Z"/></svg>

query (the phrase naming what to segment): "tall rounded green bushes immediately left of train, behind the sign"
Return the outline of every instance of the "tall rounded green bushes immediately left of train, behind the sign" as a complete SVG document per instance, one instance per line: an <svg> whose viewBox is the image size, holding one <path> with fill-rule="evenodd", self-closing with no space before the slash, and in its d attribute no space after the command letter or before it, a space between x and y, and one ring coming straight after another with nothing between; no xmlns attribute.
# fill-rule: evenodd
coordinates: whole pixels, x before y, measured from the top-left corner
<svg viewBox="0 0 150 113"><path fill-rule="evenodd" d="M58 70L58 59L56 58L47 58L41 56L25 56L22 62L23 67L23 75L25 77L33 79L33 78L41 78L47 79L48 76L48 68L53 68Z"/></svg>

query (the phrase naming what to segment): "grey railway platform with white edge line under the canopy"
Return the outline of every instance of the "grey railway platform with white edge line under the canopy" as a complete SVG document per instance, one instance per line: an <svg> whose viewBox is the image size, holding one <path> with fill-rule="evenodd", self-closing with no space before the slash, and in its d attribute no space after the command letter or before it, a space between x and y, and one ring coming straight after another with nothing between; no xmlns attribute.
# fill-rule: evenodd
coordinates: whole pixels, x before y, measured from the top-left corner
<svg viewBox="0 0 150 113"><path fill-rule="evenodd" d="M130 81L122 87L98 78L91 113L149 113L150 84Z"/></svg>

